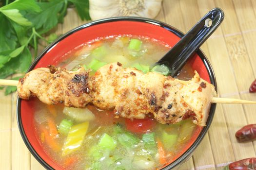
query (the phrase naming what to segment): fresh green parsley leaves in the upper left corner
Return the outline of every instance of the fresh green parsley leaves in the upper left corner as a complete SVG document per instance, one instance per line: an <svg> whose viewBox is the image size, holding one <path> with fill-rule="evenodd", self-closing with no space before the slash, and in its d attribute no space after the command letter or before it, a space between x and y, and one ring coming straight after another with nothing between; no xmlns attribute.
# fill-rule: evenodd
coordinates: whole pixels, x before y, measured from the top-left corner
<svg viewBox="0 0 256 170"><path fill-rule="evenodd" d="M25 73L32 62L30 50L34 49L35 57L39 40L50 42L42 35L63 22L69 6L75 6L82 20L90 20L88 0L6 0L0 3L0 79ZM55 34L50 35L50 39L55 38ZM16 89L6 87L5 95Z"/></svg>

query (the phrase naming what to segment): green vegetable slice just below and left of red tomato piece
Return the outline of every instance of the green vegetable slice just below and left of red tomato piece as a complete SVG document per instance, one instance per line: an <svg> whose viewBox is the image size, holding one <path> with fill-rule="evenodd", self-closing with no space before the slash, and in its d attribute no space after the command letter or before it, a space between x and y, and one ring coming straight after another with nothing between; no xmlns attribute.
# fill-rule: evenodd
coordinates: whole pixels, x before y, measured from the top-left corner
<svg viewBox="0 0 256 170"><path fill-rule="evenodd" d="M139 142L139 139L131 133L124 133L118 136L118 142L126 148L131 148Z"/></svg>

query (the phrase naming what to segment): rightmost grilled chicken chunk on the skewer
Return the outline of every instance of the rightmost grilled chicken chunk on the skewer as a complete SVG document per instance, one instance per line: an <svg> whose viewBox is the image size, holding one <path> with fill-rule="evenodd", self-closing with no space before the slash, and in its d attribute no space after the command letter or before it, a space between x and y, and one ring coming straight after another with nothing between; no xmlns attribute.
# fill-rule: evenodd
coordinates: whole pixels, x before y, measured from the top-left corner
<svg viewBox="0 0 256 170"><path fill-rule="evenodd" d="M201 79L195 71L190 81L166 77L163 85L161 109L155 118L161 123L174 124L192 118L198 125L205 125L212 97L216 97L214 85Z"/></svg>

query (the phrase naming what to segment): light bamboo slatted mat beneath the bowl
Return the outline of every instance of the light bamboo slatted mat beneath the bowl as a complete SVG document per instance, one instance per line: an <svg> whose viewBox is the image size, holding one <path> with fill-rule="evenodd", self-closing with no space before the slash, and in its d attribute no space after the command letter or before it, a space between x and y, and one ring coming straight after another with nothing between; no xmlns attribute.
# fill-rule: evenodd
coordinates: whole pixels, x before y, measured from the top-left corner
<svg viewBox="0 0 256 170"><path fill-rule="evenodd" d="M201 49L217 78L220 97L256 101L248 92L256 78L256 0L163 0L156 19L186 33L205 13L220 7L225 19ZM85 23L68 10L58 34ZM39 49L39 51L41 51ZM43 170L21 139L16 121L17 94L0 91L0 170ZM217 104L213 123L193 157L180 170L221 170L230 162L256 157L256 142L238 143L236 131L256 123L256 105Z"/></svg>

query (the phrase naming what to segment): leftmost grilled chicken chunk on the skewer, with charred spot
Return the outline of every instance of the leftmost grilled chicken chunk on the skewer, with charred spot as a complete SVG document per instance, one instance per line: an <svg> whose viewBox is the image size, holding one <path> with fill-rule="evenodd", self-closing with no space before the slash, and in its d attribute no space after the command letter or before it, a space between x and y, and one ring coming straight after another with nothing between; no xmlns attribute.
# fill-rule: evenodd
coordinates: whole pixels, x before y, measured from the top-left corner
<svg viewBox="0 0 256 170"><path fill-rule="evenodd" d="M45 104L64 103L68 107L85 107L92 101L89 71L62 68L37 68L20 79L18 95L22 99L38 97Z"/></svg>

